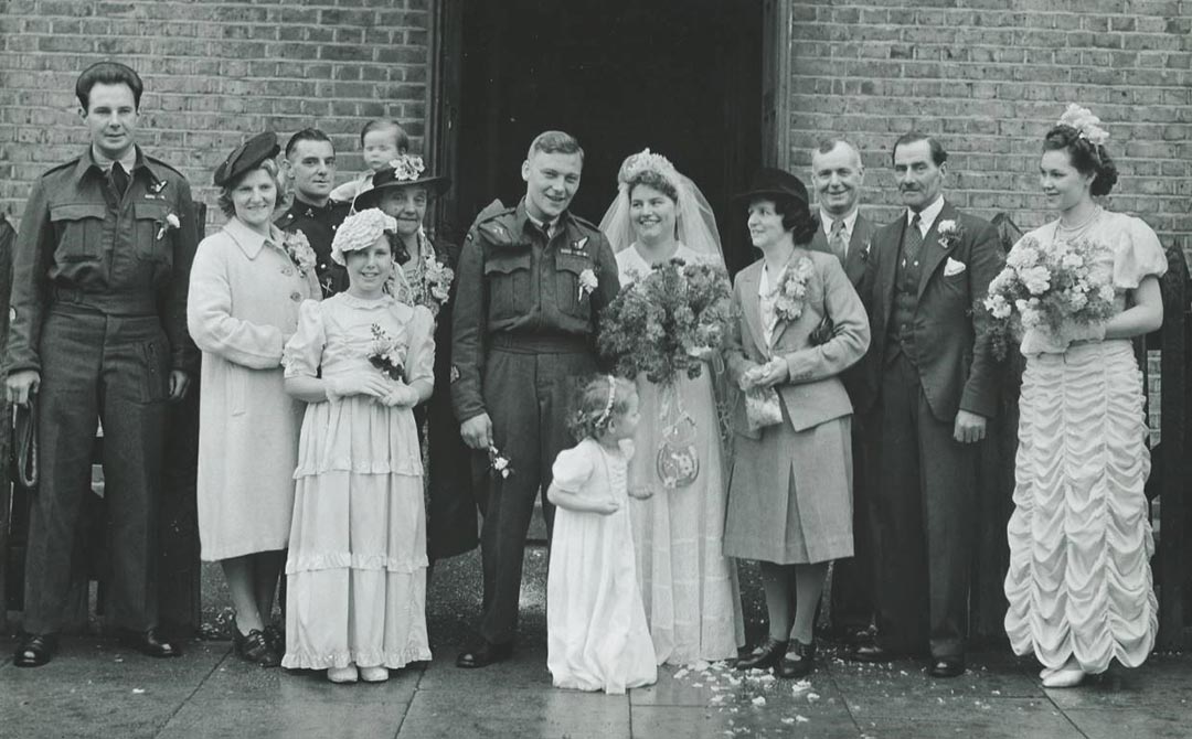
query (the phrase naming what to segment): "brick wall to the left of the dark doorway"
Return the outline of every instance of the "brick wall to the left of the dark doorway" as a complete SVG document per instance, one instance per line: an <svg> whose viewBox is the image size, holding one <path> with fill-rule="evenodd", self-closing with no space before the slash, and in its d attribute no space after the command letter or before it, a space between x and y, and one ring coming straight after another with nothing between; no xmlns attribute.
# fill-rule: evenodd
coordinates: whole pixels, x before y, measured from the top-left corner
<svg viewBox="0 0 1192 739"><path fill-rule="evenodd" d="M421 145L428 0L0 0L0 211L87 141L74 81L104 58L145 83L138 141L211 207L211 174L247 135L315 125L341 180L361 169L360 128L387 116Z"/></svg>

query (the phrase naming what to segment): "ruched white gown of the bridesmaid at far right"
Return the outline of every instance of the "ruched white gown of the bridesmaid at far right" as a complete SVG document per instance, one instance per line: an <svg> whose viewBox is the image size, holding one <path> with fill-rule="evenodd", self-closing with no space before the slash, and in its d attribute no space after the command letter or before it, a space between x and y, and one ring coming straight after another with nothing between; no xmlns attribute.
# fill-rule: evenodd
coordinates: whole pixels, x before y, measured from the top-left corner
<svg viewBox="0 0 1192 739"><path fill-rule="evenodd" d="M1028 234L1044 249L1056 235L1055 223ZM1159 240L1137 218L1104 212L1078 236L1112 247L1118 310L1125 291L1167 271ZM1143 492L1150 453L1131 342L1030 354L1019 409L1005 583L1011 645L1053 669L1073 656L1088 673L1112 659L1137 666L1159 621Z"/></svg>

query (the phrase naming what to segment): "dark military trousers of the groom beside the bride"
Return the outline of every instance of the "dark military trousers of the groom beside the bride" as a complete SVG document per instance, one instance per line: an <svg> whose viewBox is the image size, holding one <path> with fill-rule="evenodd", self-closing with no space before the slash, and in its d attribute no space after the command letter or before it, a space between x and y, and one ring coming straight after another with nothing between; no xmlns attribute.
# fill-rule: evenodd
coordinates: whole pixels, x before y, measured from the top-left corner
<svg viewBox="0 0 1192 739"><path fill-rule="evenodd" d="M505 346L501 346L504 343ZM517 631L526 534L541 495L547 532L554 507L546 499L551 466L559 452L577 442L567 429L577 381L596 372L585 342L495 342L484 373L484 403L492 439L509 458L514 473L489 476L480 528L484 607L479 633L491 644L513 641ZM486 453L477 464L488 466Z"/></svg>

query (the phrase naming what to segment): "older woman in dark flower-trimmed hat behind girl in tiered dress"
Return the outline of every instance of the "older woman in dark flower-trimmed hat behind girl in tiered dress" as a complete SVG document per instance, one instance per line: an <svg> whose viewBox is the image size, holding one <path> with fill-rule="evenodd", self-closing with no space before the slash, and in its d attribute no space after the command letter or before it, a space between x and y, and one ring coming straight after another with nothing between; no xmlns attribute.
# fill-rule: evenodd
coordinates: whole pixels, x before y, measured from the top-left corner
<svg viewBox="0 0 1192 739"><path fill-rule="evenodd" d="M430 199L451 187L451 180L427 172L421 156L401 154L372 176L368 190L356 195L355 211L379 209L397 222L390 234L393 271L390 291L399 303L423 305L435 322L435 386L427 403L415 409L418 428L427 429L429 496L427 555L430 561L462 554L479 544L477 505L472 497L470 451L459 436L451 406L451 287L459 249L432 243L423 222Z"/></svg>

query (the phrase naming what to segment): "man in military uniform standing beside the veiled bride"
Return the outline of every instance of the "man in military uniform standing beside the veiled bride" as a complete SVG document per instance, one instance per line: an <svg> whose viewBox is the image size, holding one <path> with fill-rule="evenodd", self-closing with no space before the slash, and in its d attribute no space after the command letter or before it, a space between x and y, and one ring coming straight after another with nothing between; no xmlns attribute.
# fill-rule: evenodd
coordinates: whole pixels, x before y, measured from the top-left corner
<svg viewBox="0 0 1192 739"><path fill-rule="evenodd" d="M452 404L478 464L496 448L513 474L490 478L480 553L480 640L455 662L483 667L508 659L517 627L526 533L551 465L573 446L566 414L576 378L596 371L600 311L616 297L608 240L567 206L579 188L584 153L560 131L540 133L522 163L526 197L483 212L460 254L452 323Z"/></svg>

